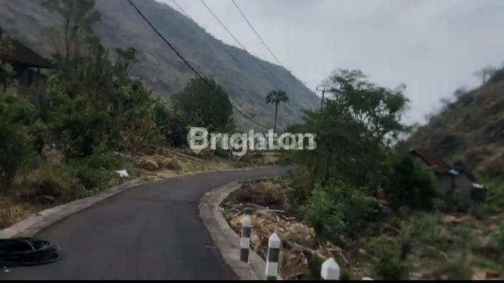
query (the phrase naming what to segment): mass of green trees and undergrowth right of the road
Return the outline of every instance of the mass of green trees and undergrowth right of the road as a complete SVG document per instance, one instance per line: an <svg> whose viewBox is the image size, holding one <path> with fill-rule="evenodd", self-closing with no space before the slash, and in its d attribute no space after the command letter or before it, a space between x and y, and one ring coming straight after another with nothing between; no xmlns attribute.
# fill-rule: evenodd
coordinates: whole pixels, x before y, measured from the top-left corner
<svg viewBox="0 0 504 283"><path fill-rule="evenodd" d="M477 268L500 272L482 240L491 233L489 224L442 215L458 203L447 203L433 169L402 150L407 143L400 136L411 130L402 124L404 86L386 89L347 70L326 82L332 97L325 108L306 111L304 124L288 129L317 134L314 152L289 152L300 170L287 192L290 203L302 207L295 213L316 232L313 245L334 242L359 259L347 272L374 279L471 279ZM459 97L469 101L466 93ZM501 184L496 177L487 182L486 201L470 211L481 219L502 213ZM470 207L463 206L456 211ZM499 235L493 236L496 247Z"/></svg>

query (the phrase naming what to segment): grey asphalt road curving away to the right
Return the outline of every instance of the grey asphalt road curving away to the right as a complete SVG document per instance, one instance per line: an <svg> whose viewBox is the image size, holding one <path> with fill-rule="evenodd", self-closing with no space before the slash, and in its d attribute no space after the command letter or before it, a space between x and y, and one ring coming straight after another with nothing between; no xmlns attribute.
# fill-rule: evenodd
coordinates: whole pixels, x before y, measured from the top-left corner
<svg viewBox="0 0 504 283"><path fill-rule="evenodd" d="M200 198L228 182L287 170L201 173L123 191L36 235L59 245L58 262L0 269L0 279L236 280L200 219Z"/></svg>

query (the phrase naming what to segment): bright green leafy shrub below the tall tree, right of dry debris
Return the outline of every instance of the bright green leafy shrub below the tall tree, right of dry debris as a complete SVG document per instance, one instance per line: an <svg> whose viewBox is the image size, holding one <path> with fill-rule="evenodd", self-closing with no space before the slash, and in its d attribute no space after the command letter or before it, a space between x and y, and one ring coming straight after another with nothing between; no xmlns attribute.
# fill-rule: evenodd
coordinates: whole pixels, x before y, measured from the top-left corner
<svg viewBox="0 0 504 283"><path fill-rule="evenodd" d="M366 198L362 189L335 181L326 186L316 184L304 208L304 219L324 240L339 241L339 235L354 235L369 222L378 203Z"/></svg>

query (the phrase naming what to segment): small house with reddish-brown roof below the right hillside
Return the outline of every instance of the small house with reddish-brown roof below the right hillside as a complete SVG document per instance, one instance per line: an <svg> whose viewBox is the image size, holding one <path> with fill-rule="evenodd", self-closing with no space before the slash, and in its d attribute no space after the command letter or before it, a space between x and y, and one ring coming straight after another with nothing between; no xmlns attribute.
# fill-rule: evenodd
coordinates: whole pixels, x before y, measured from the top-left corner
<svg viewBox="0 0 504 283"><path fill-rule="evenodd" d="M485 188L477 182L470 170L458 164L450 166L430 150L416 148L409 151L425 166L432 167L442 187L444 196L453 201L455 195L470 203L484 201Z"/></svg>

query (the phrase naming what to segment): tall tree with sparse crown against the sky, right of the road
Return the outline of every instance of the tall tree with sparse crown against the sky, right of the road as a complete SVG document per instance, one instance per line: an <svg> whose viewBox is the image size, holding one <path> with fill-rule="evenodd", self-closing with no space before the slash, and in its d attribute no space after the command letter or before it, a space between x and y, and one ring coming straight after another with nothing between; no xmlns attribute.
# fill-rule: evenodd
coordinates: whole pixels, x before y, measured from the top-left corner
<svg viewBox="0 0 504 283"><path fill-rule="evenodd" d="M316 133L316 150L294 151L293 157L309 170L312 184L342 179L364 186L376 180L386 150L409 129L401 122L404 86L379 87L358 70L335 71L327 82L333 98L321 111L305 111L304 124L289 129Z"/></svg>

